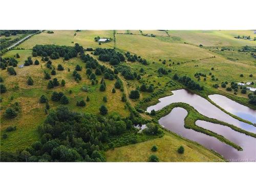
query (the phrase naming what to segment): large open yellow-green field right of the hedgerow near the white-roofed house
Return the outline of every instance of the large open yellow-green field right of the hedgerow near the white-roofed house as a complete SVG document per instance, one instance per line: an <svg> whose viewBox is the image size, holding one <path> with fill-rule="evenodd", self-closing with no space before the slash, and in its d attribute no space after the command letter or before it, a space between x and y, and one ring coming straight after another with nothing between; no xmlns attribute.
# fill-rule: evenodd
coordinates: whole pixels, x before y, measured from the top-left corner
<svg viewBox="0 0 256 192"><path fill-rule="evenodd" d="M214 56L214 53L208 50L193 45L169 42L168 38L161 40L142 35L116 34L116 47L122 51L136 53L150 61L172 59L175 62L182 62Z"/></svg>

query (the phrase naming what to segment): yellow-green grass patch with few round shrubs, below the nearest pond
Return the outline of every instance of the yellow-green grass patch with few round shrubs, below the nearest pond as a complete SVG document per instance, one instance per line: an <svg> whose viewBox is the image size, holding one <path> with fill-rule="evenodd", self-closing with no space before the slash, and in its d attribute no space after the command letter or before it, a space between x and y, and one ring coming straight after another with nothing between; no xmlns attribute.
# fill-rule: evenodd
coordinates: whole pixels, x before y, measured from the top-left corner
<svg viewBox="0 0 256 192"><path fill-rule="evenodd" d="M195 142L167 131L164 133L161 138L109 150L105 153L106 159L110 162L147 162L150 155L157 155L160 162L223 161L222 158ZM153 145L158 147L156 152L151 151ZM181 145L185 148L184 154L177 152Z"/></svg>

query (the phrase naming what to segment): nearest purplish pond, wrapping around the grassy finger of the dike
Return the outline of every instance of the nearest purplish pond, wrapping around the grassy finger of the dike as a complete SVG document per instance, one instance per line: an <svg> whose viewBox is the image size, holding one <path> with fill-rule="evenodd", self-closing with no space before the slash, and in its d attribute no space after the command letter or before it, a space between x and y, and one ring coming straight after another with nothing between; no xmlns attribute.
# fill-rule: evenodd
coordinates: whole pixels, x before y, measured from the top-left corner
<svg viewBox="0 0 256 192"><path fill-rule="evenodd" d="M189 140L196 141L209 150L214 150L229 161L255 161L256 139L245 134L233 131L230 127L198 120L196 124L210 131L223 135L230 141L240 145L243 151L227 145L215 137L205 135L184 127L187 111L183 108L174 108L168 115L159 119L159 123L167 130L177 133ZM214 160L213 160L214 161Z"/></svg>

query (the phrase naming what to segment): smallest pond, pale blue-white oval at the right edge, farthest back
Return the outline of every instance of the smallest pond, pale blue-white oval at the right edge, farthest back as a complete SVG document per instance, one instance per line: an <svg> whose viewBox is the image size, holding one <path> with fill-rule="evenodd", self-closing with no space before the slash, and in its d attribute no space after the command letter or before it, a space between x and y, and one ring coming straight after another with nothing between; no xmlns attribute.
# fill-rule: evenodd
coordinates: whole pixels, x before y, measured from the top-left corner
<svg viewBox="0 0 256 192"><path fill-rule="evenodd" d="M223 95L214 94L208 97L227 112L252 123L256 123L256 111L248 108L248 106L237 103Z"/></svg>

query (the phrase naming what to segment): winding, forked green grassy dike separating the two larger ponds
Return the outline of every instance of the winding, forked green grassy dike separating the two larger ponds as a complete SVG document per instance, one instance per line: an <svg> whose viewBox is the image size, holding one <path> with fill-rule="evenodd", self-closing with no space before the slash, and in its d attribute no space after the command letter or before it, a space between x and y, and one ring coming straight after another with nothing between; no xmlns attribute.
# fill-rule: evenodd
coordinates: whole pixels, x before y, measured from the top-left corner
<svg viewBox="0 0 256 192"><path fill-rule="evenodd" d="M159 110L159 111L156 112L156 116L154 118L159 120L161 117L166 116L174 108L177 108L177 107L183 108L183 109L185 109L187 111L187 116L184 119L184 121L185 121L184 126L185 126L186 129L193 129L193 130L195 130L197 132L201 132L203 134L215 137L215 138L219 139L220 141L222 141L222 142L224 142L224 143L226 143L226 144L236 148L239 151L243 150L241 146L237 145L236 143L233 143L233 142L229 141L228 139L226 139L222 135L219 135L219 134L217 134L215 132L206 130L203 127L200 127L200 126L196 125L196 121L197 120L203 120L203 121L208 121L208 122L211 122L211 123L216 123L216 124L221 124L221 125L229 126L234 131L237 131L237 132L240 132L240 133L244 133L246 135L249 135L251 137L256 138L256 134L254 134L254 133L247 132L247 131L245 131L243 129L240 129L237 126L234 126L232 124L229 124L229 123L217 120L217 119L208 118L208 117L200 114L192 106L190 106L190 105L188 105L186 103L182 103L182 102L172 103L172 104L169 104L168 106L165 106L165 108L163 108L162 110Z"/></svg>

